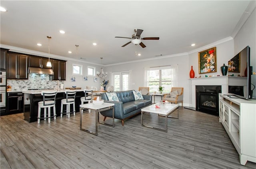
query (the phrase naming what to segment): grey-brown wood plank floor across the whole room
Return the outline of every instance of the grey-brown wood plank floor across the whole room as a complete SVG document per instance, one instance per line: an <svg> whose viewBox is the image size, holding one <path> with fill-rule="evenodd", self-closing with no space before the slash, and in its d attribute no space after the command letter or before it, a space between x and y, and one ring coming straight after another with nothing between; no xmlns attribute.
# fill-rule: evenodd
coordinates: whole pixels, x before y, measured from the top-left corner
<svg viewBox="0 0 256 169"><path fill-rule="evenodd" d="M143 117L145 123L164 127L164 117ZM1 169L256 168L252 162L240 165L218 117L185 108L180 108L180 119L168 119L168 133L142 127L141 115L124 126L120 120L114 128L99 124L98 136L79 129L79 113L40 124L24 121L22 113L0 120ZM93 129L93 113L83 113L83 120L83 127Z"/></svg>

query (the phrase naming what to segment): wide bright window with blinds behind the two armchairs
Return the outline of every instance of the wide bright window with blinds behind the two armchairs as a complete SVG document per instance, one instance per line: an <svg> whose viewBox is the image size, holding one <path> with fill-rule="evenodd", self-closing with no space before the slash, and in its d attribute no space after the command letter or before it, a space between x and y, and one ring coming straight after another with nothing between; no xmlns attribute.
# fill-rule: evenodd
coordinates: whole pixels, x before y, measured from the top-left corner
<svg viewBox="0 0 256 169"><path fill-rule="evenodd" d="M158 91L158 87L164 87L163 93L169 93L174 87L177 66L162 66L146 70L146 83L150 92Z"/></svg>

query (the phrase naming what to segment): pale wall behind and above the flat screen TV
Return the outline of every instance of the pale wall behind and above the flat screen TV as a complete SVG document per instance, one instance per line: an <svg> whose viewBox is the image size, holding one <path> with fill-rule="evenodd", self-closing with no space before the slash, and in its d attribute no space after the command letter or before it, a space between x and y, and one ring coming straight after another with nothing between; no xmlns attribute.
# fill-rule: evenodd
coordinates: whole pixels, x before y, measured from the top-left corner
<svg viewBox="0 0 256 169"><path fill-rule="evenodd" d="M250 46L250 65L253 66L253 72L256 72L256 9L244 23L234 38L234 53L238 54L246 46ZM256 85L256 75L252 75L252 84ZM254 89L253 97L256 97Z"/></svg>

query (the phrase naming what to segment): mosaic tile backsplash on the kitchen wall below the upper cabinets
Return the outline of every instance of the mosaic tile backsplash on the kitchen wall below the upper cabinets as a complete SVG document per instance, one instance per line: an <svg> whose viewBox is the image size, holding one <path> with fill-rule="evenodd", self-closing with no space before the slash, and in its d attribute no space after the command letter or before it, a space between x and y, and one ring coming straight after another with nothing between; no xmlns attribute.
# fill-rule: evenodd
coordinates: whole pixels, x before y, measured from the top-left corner
<svg viewBox="0 0 256 169"><path fill-rule="evenodd" d="M62 84L62 81L59 81ZM28 74L28 80L15 80L15 79L7 79L7 85L12 87L12 91L14 90L27 90L27 89L48 89L54 88L56 89L58 86L57 80L50 80L50 75L45 74Z"/></svg>

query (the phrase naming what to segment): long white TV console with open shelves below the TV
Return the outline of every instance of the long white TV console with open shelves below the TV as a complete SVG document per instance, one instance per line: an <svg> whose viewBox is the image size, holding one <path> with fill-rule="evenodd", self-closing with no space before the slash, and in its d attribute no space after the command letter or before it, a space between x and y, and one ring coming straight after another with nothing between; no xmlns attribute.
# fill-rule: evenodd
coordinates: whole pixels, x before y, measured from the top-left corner
<svg viewBox="0 0 256 169"><path fill-rule="evenodd" d="M256 99L232 97L219 94L220 123L240 156L240 164L256 163Z"/></svg>

